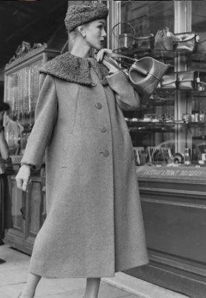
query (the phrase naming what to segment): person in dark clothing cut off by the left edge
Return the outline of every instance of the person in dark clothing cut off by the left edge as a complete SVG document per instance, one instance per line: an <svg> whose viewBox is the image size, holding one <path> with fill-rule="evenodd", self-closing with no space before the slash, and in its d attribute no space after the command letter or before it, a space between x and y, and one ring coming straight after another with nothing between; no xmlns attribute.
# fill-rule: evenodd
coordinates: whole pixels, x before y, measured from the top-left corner
<svg viewBox="0 0 206 298"><path fill-rule="evenodd" d="M5 103L0 103L0 245L3 245L5 229L12 227L12 206L8 189L5 162L10 162L8 143L4 136L3 115Z"/></svg>

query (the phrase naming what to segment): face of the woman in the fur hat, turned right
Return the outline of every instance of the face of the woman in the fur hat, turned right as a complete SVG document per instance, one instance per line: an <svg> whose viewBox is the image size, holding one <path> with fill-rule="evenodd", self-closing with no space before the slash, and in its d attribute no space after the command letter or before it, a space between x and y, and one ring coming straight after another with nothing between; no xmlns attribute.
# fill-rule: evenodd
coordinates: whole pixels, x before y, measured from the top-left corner
<svg viewBox="0 0 206 298"><path fill-rule="evenodd" d="M94 49L100 50L104 47L104 39L107 36L105 32L105 20L96 20L88 23L85 29L85 40Z"/></svg>

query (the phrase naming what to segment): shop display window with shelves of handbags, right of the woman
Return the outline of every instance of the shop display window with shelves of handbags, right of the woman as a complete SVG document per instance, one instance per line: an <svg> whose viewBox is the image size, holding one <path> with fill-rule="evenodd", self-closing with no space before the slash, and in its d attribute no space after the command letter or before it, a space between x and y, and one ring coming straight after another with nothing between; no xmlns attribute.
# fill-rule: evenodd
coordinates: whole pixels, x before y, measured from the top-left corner
<svg viewBox="0 0 206 298"><path fill-rule="evenodd" d="M192 32L195 42L202 41L206 5L192 5ZM148 103L124 113L136 165L205 166L206 41L193 51L169 49L165 43L165 49L155 47L160 29L166 28L168 36L181 32L183 20L179 18L177 25L174 1L118 1L116 11L113 51L136 59L149 55L169 66Z"/></svg>

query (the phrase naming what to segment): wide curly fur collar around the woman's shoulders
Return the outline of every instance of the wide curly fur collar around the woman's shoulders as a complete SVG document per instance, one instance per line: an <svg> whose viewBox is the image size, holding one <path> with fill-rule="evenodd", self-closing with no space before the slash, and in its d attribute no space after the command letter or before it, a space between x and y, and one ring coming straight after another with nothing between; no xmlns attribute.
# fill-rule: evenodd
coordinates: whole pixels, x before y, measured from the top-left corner
<svg viewBox="0 0 206 298"><path fill-rule="evenodd" d="M97 62L94 58L80 58L66 52L58 55L40 68L40 73L53 75L59 79L65 79L68 82L92 86L90 76L90 67L98 75L103 86L107 85L106 75L109 71L107 68Z"/></svg>

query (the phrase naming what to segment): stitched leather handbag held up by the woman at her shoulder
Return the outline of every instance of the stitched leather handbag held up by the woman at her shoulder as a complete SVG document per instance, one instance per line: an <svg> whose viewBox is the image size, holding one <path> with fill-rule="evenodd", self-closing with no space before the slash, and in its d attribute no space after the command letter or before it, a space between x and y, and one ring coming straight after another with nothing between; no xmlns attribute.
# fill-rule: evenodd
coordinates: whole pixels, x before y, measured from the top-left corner
<svg viewBox="0 0 206 298"><path fill-rule="evenodd" d="M115 58L116 60L121 58L121 66L114 62L111 58ZM121 71L123 70L122 66L124 64L122 58L126 58L127 60L131 60L133 62L133 64L129 67L129 70L127 72L124 71L124 73L129 78L133 88L135 88L140 94L141 103L147 103L149 97L152 95L155 88L157 88L157 85L162 79L164 73L167 71L168 65L151 57L144 57L140 60L136 60L114 53L104 56L104 59L107 62L110 62L110 64Z"/></svg>

